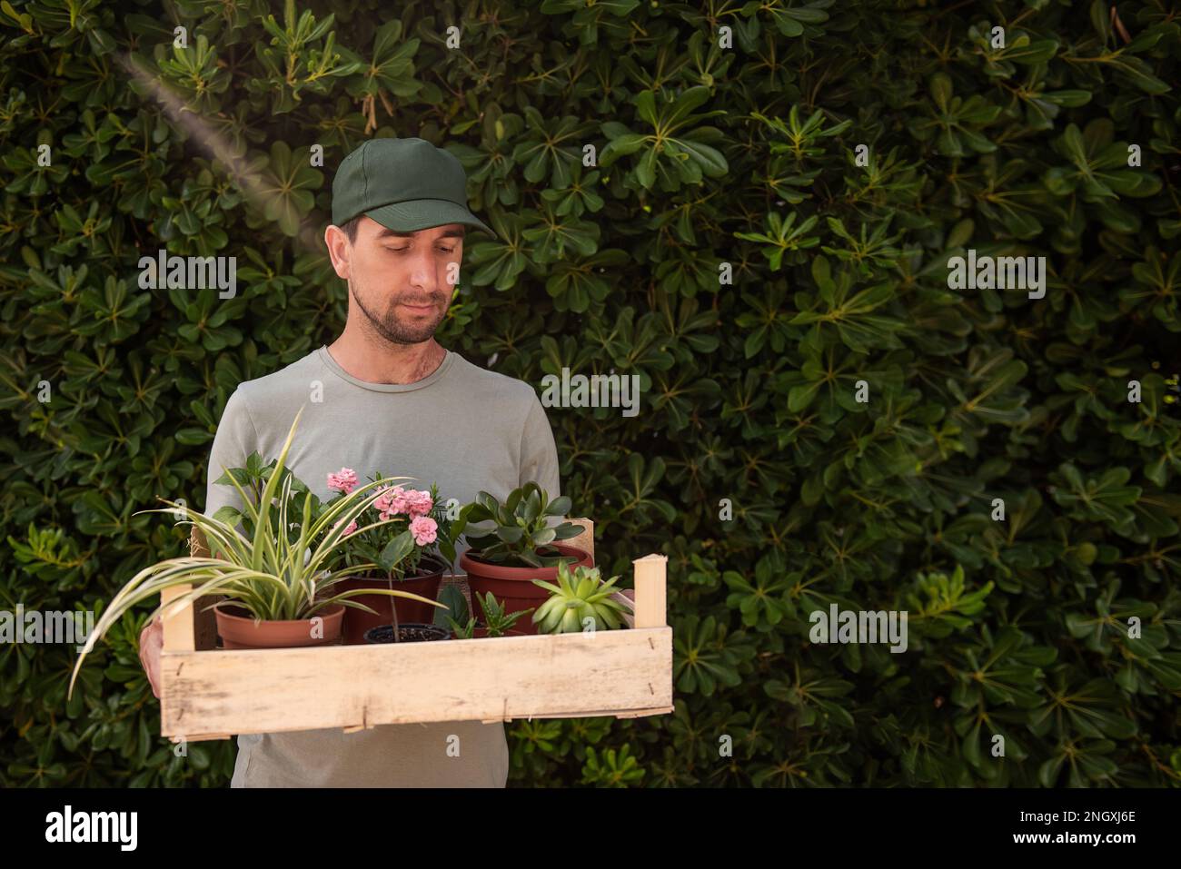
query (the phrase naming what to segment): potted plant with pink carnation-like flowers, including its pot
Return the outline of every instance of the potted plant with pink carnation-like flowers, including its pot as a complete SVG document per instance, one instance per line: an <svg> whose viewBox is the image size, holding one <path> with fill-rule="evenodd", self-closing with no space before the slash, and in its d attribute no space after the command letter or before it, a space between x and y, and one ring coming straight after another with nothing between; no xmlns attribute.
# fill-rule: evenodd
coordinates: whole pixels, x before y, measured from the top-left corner
<svg viewBox="0 0 1181 869"><path fill-rule="evenodd" d="M377 473L371 479L381 479ZM328 488L335 495L328 504L346 497L358 485L357 473L348 468L328 475ZM383 520L368 530L359 530L355 522L345 528L346 542L332 561L333 573L341 576L344 590L398 588L433 601L439 593L443 574L455 561L451 521L439 502L438 488L407 489L383 485L380 495L366 508L361 522ZM383 625L394 636L392 625L424 625L432 618L432 607L412 597L394 597L389 602L378 595L361 594L357 602L378 612L350 609L345 613L345 642L364 641L366 632ZM420 636L409 632L407 636ZM400 636L400 633L399 633Z"/></svg>

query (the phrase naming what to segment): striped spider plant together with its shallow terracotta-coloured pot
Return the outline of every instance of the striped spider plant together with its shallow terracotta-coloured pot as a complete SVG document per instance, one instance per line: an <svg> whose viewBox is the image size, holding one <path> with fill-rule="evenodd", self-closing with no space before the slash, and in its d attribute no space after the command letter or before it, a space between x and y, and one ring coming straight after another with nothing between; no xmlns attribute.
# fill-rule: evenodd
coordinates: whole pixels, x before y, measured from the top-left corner
<svg viewBox="0 0 1181 869"><path fill-rule="evenodd" d="M334 586L339 579L325 566L342 545L344 529L380 496L379 486L393 481L358 486L331 505L321 505L286 466L302 412L300 409L295 414L276 459L263 464L254 453L246 468L226 472L223 479L239 490L244 512L222 508L207 517L164 498L161 501L170 507L141 511L172 515L180 511L188 524L204 532L210 557L167 558L132 576L115 594L86 638L70 679L71 692L86 655L111 626L136 605L172 586L191 584L193 588L167 606L161 603L150 618L193 605L207 595L224 595L226 600L216 603L214 610L217 632L227 648L318 646L340 639L345 608L363 607L351 600L361 593L338 592ZM244 530L240 531L234 524L235 517L241 518ZM380 593L417 597L393 589Z"/></svg>

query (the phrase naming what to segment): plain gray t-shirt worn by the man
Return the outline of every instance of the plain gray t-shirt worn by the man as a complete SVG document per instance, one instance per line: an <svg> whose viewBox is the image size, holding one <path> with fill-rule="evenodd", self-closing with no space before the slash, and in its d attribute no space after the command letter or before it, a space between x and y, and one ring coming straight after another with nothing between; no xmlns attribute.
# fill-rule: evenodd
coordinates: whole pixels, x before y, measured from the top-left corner
<svg viewBox="0 0 1181 869"><path fill-rule="evenodd" d="M407 485L418 489L437 483L441 498L461 504L478 491L503 498L528 481L560 494L554 434L527 383L448 351L417 383L371 384L320 347L230 396L209 458L207 516L240 507L237 491L214 481L255 450L278 457L300 406L287 466L321 498L333 494L327 475L341 468L363 482L380 471L416 477ZM452 736L458 757L448 751ZM231 788L503 788L509 769L500 723L240 734L237 747Z"/></svg>

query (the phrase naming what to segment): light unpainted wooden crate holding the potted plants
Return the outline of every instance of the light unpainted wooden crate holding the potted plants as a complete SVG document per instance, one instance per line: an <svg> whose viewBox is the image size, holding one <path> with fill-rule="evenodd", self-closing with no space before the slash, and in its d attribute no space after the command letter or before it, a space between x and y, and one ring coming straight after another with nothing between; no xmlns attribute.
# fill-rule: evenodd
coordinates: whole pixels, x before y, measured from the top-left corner
<svg viewBox="0 0 1181 869"><path fill-rule="evenodd" d="M570 541L594 551L593 524ZM194 529L193 551L204 549ZM204 549L208 553L208 549ZM632 628L365 646L217 649L202 599L169 614L161 654L161 733L236 733L514 718L637 718L672 712L672 628L664 555L633 561ZM164 600L190 590L165 589Z"/></svg>

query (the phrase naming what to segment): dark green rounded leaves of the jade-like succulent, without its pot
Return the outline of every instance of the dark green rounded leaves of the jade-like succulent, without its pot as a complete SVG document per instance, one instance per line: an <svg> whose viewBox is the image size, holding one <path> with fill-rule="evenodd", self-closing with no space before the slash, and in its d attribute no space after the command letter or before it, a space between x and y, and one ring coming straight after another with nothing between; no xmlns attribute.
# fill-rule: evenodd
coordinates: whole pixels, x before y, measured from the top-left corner
<svg viewBox="0 0 1181 869"><path fill-rule="evenodd" d="M495 496L479 492L461 512L452 535L458 536L471 522L494 522L491 530L466 536L472 554L508 567L554 567L569 556L560 555L556 549L546 551L546 548L582 532L573 522L549 524L550 517L565 516L569 509L570 499L565 495L550 501L544 490L531 482L509 492L503 504Z"/></svg>

